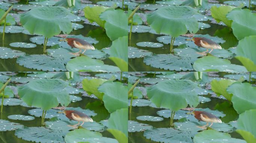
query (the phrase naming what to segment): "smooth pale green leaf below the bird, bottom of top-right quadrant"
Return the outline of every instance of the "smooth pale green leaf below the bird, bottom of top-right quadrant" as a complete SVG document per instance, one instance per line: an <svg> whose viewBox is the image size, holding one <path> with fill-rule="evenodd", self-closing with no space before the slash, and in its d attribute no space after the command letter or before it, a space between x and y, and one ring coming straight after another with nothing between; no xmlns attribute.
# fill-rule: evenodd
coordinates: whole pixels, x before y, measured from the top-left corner
<svg viewBox="0 0 256 143"><path fill-rule="evenodd" d="M231 64L229 60L220 59L212 55L199 58L193 64L196 71L225 71L225 72L246 72L246 68L240 65Z"/></svg>

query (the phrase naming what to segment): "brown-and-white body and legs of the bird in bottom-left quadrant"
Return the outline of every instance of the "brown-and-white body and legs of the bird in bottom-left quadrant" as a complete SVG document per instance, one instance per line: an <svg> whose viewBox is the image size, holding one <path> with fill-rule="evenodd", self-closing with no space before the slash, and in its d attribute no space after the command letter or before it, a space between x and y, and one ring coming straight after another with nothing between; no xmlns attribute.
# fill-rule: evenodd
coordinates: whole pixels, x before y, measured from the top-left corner
<svg viewBox="0 0 256 143"><path fill-rule="evenodd" d="M83 123L93 122L92 118L88 117L86 114L84 114L82 112L78 112L78 111L75 111L75 110L65 110L64 114L66 115L66 117L68 119L78 121L78 124L71 125L73 127L76 127L76 125L79 125L80 121L83 122ZM83 123L80 126L82 126Z"/></svg>

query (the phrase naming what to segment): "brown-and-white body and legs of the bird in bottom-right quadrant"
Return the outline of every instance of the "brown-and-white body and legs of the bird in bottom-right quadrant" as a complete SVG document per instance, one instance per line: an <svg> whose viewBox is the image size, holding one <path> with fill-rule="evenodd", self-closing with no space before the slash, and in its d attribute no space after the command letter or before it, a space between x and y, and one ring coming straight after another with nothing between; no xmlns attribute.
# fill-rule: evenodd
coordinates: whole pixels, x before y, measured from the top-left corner
<svg viewBox="0 0 256 143"><path fill-rule="evenodd" d="M209 123L211 123L211 125L213 125L213 123L222 123L222 121L218 117L208 112L193 111L193 114L197 120L207 122L207 124L202 127L206 127ZM209 127L211 127L211 125Z"/></svg>

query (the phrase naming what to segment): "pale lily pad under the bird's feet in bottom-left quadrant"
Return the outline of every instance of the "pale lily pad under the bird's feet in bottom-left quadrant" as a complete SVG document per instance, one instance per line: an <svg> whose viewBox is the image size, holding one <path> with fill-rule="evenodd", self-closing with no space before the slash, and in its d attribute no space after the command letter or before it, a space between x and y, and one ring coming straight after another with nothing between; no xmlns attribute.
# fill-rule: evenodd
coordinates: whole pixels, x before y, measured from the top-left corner
<svg viewBox="0 0 256 143"><path fill-rule="evenodd" d="M70 127L68 125L74 125L77 124L77 121L74 120L70 120L70 121L46 121L45 125L47 128L51 129L51 130L59 130L59 131L63 131L65 133L67 133L69 130L73 130L73 127ZM101 131L104 128L104 125L96 123L94 122L85 122L82 125L83 128L86 128L87 130L90 131Z"/></svg>

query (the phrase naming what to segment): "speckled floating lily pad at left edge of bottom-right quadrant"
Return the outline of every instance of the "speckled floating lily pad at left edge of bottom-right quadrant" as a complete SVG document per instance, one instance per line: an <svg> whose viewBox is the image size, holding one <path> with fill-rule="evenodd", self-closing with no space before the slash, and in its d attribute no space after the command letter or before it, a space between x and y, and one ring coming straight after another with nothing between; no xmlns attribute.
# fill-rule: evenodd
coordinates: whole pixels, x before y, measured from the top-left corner
<svg viewBox="0 0 256 143"><path fill-rule="evenodd" d="M145 131L151 128L153 128L152 125L128 120L128 132Z"/></svg>

